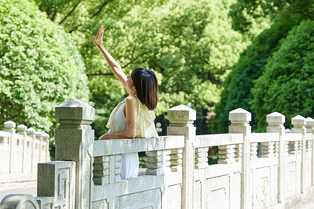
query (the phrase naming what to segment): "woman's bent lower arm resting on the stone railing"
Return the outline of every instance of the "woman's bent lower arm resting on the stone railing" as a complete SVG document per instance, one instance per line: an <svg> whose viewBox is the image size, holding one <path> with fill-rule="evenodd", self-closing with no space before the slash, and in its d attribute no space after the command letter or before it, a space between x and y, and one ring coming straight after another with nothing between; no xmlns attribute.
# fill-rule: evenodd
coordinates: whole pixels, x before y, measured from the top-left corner
<svg viewBox="0 0 314 209"><path fill-rule="evenodd" d="M137 98L135 96L128 96L126 98L126 130L124 132L103 134L103 136L99 137L99 140L135 138L137 112Z"/></svg>

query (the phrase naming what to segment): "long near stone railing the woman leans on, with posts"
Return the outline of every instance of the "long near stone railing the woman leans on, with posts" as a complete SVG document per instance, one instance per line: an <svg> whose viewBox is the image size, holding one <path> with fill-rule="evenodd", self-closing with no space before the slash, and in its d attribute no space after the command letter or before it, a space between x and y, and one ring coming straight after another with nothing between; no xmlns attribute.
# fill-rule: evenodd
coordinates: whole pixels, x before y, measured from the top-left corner
<svg viewBox="0 0 314 209"><path fill-rule="evenodd" d="M94 141L94 108L61 104L59 161L38 164L36 198L9 195L0 208L291 208L313 194L312 118L292 118L287 134L285 116L275 112L266 133L251 133L251 114L235 109L228 134L195 136L195 116L179 105L168 110L167 137ZM218 164L207 162L211 146L218 146ZM121 155L142 151L146 174L121 180Z"/></svg>

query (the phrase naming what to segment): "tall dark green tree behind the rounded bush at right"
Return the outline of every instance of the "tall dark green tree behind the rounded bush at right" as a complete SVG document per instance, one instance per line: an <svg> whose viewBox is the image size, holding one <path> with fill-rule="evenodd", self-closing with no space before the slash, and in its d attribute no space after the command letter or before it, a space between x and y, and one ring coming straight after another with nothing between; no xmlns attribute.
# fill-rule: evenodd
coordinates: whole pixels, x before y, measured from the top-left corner
<svg viewBox="0 0 314 209"><path fill-rule="evenodd" d="M253 114L251 125L253 130L257 128L257 118L250 104L251 100L253 100L251 88L253 88L254 80L262 75L267 60L278 50L279 41L287 36L288 31L293 26L300 24L302 20L313 18L313 1L311 0L278 1L277 6L271 4L271 1L255 2L243 0L239 2L245 4L247 10L261 8L261 6L258 6L258 2L267 2L267 6L262 6L262 8L274 6L272 10L262 10L262 14L265 17L267 15L274 17L274 23L253 40L252 45L241 54L239 63L233 66L232 72L225 79L223 84L224 90L215 109L216 116L212 121L212 132L227 132L228 113L239 107ZM255 7L251 6L252 2L257 3ZM269 11L273 12L270 13ZM251 11L250 13L254 14L255 12ZM238 17L234 16L232 18L237 19ZM252 16L251 18L254 17ZM246 33L245 31L249 29L248 25L250 24L246 24L247 29L244 26L239 26L237 29Z"/></svg>

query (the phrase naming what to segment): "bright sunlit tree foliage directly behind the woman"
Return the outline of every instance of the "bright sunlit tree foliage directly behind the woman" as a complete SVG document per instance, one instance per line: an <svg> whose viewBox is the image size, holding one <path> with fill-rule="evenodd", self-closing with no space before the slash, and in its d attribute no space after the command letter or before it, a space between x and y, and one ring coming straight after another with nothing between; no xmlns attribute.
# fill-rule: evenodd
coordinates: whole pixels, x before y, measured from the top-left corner
<svg viewBox="0 0 314 209"><path fill-rule="evenodd" d="M35 1L79 46L96 107L96 134L105 132L110 111L126 96L94 47L92 36L101 24L105 46L126 72L142 66L158 75L157 115L189 102L197 112L212 110L225 75L249 43L231 28L228 11L235 1Z"/></svg>

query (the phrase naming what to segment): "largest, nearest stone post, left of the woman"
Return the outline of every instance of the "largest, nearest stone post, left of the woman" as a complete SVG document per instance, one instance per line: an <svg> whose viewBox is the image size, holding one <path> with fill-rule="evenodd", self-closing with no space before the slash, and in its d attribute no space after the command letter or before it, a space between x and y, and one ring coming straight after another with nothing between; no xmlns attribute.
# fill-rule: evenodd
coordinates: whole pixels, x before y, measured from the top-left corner
<svg viewBox="0 0 314 209"><path fill-rule="evenodd" d="M75 208L91 208L95 109L74 99L56 107L56 160L75 161Z"/></svg>

